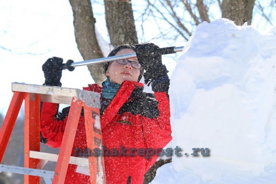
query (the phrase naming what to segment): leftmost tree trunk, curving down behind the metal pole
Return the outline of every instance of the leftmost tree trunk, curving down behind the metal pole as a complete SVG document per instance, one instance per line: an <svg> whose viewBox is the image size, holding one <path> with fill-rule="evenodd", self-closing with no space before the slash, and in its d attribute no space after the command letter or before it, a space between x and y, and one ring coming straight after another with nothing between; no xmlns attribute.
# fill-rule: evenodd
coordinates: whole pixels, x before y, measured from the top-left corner
<svg viewBox="0 0 276 184"><path fill-rule="evenodd" d="M79 52L84 60L102 58L95 34L95 18L89 0L69 0L74 16L75 37ZM101 85L105 79L104 64L89 65L93 80Z"/></svg>

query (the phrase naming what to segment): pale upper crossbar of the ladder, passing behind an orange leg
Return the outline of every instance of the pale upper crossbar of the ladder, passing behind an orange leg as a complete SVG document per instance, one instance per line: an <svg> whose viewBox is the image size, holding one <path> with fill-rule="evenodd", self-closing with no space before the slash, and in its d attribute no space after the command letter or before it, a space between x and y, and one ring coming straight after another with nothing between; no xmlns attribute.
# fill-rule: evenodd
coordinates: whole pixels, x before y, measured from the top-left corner
<svg viewBox="0 0 276 184"><path fill-rule="evenodd" d="M39 151L30 151L30 158L37 158L37 159L57 162L58 154L45 153L45 152L39 152ZM89 166L88 158L81 158L81 157L76 157L76 156L70 156L69 163L75 164L75 165Z"/></svg>

